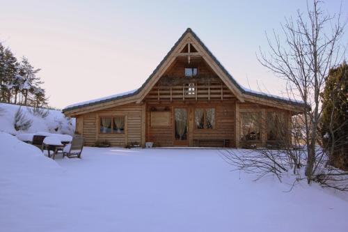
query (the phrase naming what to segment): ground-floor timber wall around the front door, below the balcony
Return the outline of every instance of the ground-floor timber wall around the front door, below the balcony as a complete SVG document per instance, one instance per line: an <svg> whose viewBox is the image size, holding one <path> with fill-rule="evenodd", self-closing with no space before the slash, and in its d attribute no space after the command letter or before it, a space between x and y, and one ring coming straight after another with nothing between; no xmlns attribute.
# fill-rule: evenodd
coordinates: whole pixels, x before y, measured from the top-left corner
<svg viewBox="0 0 348 232"><path fill-rule="evenodd" d="M146 141L155 142L155 146L175 146L174 144L174 109L184 108L188 113L188 144L193 144L196 139L212 139L212 141L200 141L201 146L219 146L223 143L219 139L228 139L227 146L235 146L235 101L199 101L199 102L147 102L146 103ZM197 129L195 123L195 109L214 108L216 122L214 129ZM168 111L170 123L168 125L152 125L152 112ZM215 141L214 141L215 140ZM180 146L180 145L179 145ZM185 145L183 145L185 146Z"/></svg>

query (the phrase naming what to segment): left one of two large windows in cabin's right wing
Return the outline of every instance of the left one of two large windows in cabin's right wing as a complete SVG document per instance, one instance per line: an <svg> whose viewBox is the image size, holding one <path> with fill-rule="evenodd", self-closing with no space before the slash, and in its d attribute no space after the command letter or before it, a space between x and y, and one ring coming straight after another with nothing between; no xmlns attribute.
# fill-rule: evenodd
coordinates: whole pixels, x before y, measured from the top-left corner
<svg viewBox="0 0 348 232"><path fill-rule="evenodd" d="M240 140L256 141L261 136L261 113L260 112L242 112L240 116Z"/></svg>

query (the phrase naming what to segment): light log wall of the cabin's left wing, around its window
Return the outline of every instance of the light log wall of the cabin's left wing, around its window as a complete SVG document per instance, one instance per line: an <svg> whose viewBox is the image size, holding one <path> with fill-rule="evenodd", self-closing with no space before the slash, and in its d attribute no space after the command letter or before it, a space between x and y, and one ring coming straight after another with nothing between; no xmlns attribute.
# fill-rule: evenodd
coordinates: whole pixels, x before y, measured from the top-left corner
<svg viewBox="0 0 348 232"><path fill-rule="evenodd" d="M83 118L83 136L86 146L95 146L96 141L109 141L111 146L126 146L132 143L138 143L143 146L143 125L145 118L142 117L143 105L128 104L119 107L112 107L93 113L79 116ZM100 117L103 116L124 116L125 133L124 134L103 134L100 133Z"/></svg>

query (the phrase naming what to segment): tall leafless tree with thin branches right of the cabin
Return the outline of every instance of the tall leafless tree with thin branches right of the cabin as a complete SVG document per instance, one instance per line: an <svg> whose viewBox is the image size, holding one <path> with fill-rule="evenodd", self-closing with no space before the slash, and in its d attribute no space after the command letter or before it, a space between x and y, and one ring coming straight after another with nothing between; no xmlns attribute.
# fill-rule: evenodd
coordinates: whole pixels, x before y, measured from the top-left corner
<svg viewBox="0 0 348 232"><path fill-rule="evenodd" d="M345 20L341 14L327 15L320 7L321 1L314 0L306 13L298 10L296 20L292 17L281 24L282 33L275 31L267 36L270 52L260 50L258 60L287 81L288 94L303 100L304 141L306 142L306 177L308 183L315 178L320 166L317 157L319 118L322 114L320 93L323 91L330 68L338 65L345 54L342 38ZM319 160L318 160L319 159Z"/></svg>

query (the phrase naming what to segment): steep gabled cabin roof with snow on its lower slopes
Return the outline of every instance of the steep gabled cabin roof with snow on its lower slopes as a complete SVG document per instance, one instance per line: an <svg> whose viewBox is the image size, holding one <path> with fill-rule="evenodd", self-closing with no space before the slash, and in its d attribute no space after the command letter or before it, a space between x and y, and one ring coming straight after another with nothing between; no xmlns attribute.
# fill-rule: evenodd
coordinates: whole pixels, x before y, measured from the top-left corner
<svg viewBox="0 0 348 232"><path fill-rule="evenodd" d="M242 95L244 96L251 96L251 97L256 97L256 98L262 98L264 100L273 100L279 103L283 103L285 105L293 105L295 107L303 107L304 104L301 101L298 100L292 100L292 99L287 99L287 98L281 98L279 96L276 95L270 95L270 94L266 94L266 93L260 93L257 91L251 91L248 88L244 88L242 85L240 85L233 77L232 75L230 75L230 73L226 70L226 68L223 67L223 65L219 62L218 59L216 59L216 57L214 56L214 54L212 54L212 52L209 51L209 49L205 46L205 44L202 42L202 40L200 40L200 38L198 38L198 36L196 35L196 33L194 33L190 28L188 28L183 34L182 36L180 36L179 40L177 40L177 42L175 42L175 45L173 45L173 47L171 48L171 50L166 54L166 56L164 56L164 59L162 59L162 61L159 63L159 65L157 65L157 67L155 68L155 70L152 72L152 74L148 77L148 79L145 80L145 82L143 83L143 85L134 90L134 91L129 91L126 93L120 93L120 94L116 94L116 95L111 95L109 97L105 97L105 98L99 98L99 99L95 99L95 100L90 100L87 102L80 102L74 105L70 105L68 107L65 107L63 109L63 112L68 112L68 111L72 111L74 109L79 109L79 108L84 108L84 107L90 107L93 105L98 105L98 104L102 104L105 102L113 102L113 101L117 101L117 100L121 100L121 99L125 99L125 98L131 98L134 97L136 98L136 95L139 95L139 93L141 93L142 91L144 91L145 87L148 86L149 82L155 77L155 75L157 74L157 72L159 71L159 69L164 65L164 63L167 61L168 57L171 56L171 54L173 54L173 52L175 51L175 49L177 49L178 45L180 45L180 43L182 42L182 40L187 36L187 35L191 35L192 38L194 40L196 40L196 42L198 42L198 44L203 47L204 52L206 52L208 54L208 56L212 59L212 61L214 61L214 63L216 63L216 65L220 68L220 70L223 72L224 75L226 75L226 77L228 77L229 82L232 84L232 86L235 86L235 88L237 88L239 93L242 93ZM134 102L136 102L136 100L134 100Z"/></svg>

